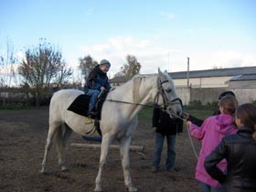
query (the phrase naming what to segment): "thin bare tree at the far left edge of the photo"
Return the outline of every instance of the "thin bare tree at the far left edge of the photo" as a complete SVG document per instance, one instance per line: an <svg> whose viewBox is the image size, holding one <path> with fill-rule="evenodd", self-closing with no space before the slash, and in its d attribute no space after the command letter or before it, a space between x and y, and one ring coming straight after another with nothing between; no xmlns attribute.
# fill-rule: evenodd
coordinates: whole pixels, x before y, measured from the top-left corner
<svg viewBox="0 0 256 192"><path fill-rule="evenodd" d="M10 39L6 38L6 51L0 53L0 87L11 87L12 83L16 83L15 71L16 58L14 56L14 48Z"/></svg>

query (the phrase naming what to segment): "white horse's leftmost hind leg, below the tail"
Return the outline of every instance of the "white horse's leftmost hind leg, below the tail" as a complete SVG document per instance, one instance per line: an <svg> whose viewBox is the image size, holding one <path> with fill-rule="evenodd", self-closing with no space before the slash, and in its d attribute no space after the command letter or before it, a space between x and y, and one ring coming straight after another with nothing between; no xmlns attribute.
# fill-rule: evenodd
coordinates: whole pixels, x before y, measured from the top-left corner
<svg viewBox="0 0 256 192"><path fill-rule="evenodd" d="M55 133L61 128L61 124L60 125L54 125L51 124L49 125L49 129L48 129L48 138L47 138L47 144L45 146L45 154L44 154L44 159L42 162L42 169L41 169L41 173L46 173L47 172L47 161L48 161L48 151L52 145L52 140L54 138Z"/></svg>

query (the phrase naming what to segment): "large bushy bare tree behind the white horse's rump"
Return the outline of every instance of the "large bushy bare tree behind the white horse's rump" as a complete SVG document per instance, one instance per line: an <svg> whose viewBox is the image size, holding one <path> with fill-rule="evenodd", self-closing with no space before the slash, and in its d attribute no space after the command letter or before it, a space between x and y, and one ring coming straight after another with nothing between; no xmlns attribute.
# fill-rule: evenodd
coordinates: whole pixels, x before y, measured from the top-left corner
<svg viewBox="0 0 256 192"><path fill-rule="evenodd" d="M61 86L72 74L71 69L67 69L59 48L53 47L45 38L39 39L37 47L27 48L18 72L23 77L23 82L35 89L37 105L43 92L48 91L50 83Z"/></svg>

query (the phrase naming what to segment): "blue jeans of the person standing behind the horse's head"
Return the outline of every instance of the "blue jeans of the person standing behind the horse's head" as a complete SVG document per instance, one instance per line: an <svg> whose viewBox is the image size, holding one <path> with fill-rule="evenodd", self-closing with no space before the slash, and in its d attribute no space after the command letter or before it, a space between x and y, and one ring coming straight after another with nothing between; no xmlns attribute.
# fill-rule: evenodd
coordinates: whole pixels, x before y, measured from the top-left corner
<svg viewBox="0 0 256 192"><path fill-rule="evenodd" d="M155 133L155 153L153 156L153 165L156 168L160 167L161 154L164 146L165 137L167 140L167 158L165 161L166 170L174 169L176 160L176 135L163 135L161 133Z"/></svg>

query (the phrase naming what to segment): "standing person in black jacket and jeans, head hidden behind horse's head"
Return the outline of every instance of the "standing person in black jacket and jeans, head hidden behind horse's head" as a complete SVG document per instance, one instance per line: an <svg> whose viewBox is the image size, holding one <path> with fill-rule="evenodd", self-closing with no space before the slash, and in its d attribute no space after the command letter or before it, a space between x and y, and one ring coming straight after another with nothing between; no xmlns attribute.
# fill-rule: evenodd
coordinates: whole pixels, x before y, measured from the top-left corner
<svg viewBox="0 0 256 192"><path fill-rule="evenodd" d="M167 158L165 168L167 171L175 172L176 159L176 133L182 133L183 121L180 119L171 119L170 115L155 106L153 111L153 131L155 132L155 152L153 156L152 171L157 172L160 169L161 154L164 140L167 142Z"/></svg>

